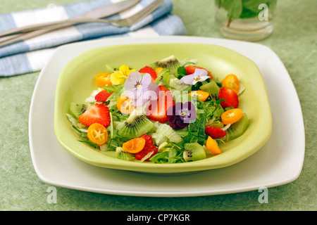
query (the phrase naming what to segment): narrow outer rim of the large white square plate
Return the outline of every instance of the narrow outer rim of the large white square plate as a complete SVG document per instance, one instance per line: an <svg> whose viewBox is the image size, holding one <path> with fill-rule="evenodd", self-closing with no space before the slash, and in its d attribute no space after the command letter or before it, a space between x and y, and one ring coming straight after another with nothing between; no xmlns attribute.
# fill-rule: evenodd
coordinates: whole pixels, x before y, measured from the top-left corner
<svg viewBox="0 0 317 225"><path fill-rule="evenodd" d="M120 41L120 39L156 39L156 41L158 40L159 38L159 41L163 41L162 43L164 43L164 41L166 41L167 39L170 40L170 41L179 41L179 40L187 40L187 41L194 41L194 43L196 43L195 41L224 41L226 43L239 43L239 42L245 42L245 41L237 41L237 40L229 40L229 39L218 39L218 38L210 38L210 37L184 37L184 36L168 36L168 37L163 37L163 36L160 36L160 37L121 37L121 38L113 38L113 39L108 39L108 40L91 40L91 41L82 41L80 43L74 43L74 44L67 44L65 46L60 46L56 49L56 51L54 51L54 54L53 56L56 55L56 53L58 53L59 51L63 51L63 49L65 48L68 48L68 46L70 45L89 45L89 44L92 44L92 43L97 43L97 42L113 42L113 41ZM259 43L249 43L248 44L254 44L256 46L261 46L261 47L264 47L267 51L271 51L271 53L273 53L277 58L278 56L276 55L276 53L271 50L270 48L268 48L268 46L264 46L263 44L259 44ZM51 56L51 58L53 57ZM278 58L280 60L280 58ZM35 100L35 96L37 94L37 89L38 89L38 86L39 86L39 83L42 79L42 77L44 77L44 72L46 71L46 68L47 66L49 65L49 62L51 61L48 60L48 62L46 62L46 64L44 65L44 68L42 69L42 71L40 72L39 74L39 77L37 79L37 82L35 84L35 89L33 91L33 94L32 94L32 99L31 99L31 104L30 104L30 113L29 113L29 141L30 141L30 153L31 153L31 158L32 158L32 162L33 162L33 166L35 167L35 172L37 173L37 175L39 176L39 179L41 179L42 181L44 181L45 183L47 184L53 184L53 185L56 185L56 186L61 186L61 187L66 187L66 188L73 188L73 189L76 189L76 190L80 190L80 191L93 191L93 192L97 192L97 193L110 193L110 194L116 194L116 195L142 195L142 196L158 196L158 197L162 197L162 196L166 196L166 197L178 197L178 196L198 196L198 195L214 195L214 194L221 194L221 193L238 193L238 192L242 192L242 191L252 191L252 190L255 190L254 188L259 188L259 186L249 186L249 187L242 187L242 188L234 188L234 190L228 190L227 192L225 191L216 191L215 192L206 192L206 191L203 191L201 193L197 193L197 191L194 191L193 193L191 192L187 192L187 193L180 193L179 195L175 195L175 192L173 193L160 193L160 192L132 192L132 191L111 191L111 190L92 190L92 188L87 188L87 187L79 187L79 186L72 186L72 185L67 185L67 184L59 184L59 183L56 183L55 181L51 180L51 179L48 179L46 176L44 176L44 174L42 174L42 172L39 171L39 167L37 167L37 163L36 163L36 159L35 159L35 149L34 149L34 146L33 146L33 143L32 143L32 113L33 113L33 109L34 109L34 100ZM285 65L282 63L282 61L280 60L280 65L282 65L284 68L285 68ZM285 68L285 71L287 72L286 68ZM288 74L287 72L287 75L288 75L288 78L290 79L290 75ZM292 82L292 80L290 79L290 82ZM292 87L294 88L294 84L292 83ZM303 117L302 117L302 108L299 104L299 98L298 98L298 94L297 94L297 91L296 89L294 88L294 94L296 94L297 96L297 106L299 106L298 110L299 110L299 113L300 113L300 117L302 118L302 121L301 121L301 134L302 134L302 140L305 140L305 134L304 134L304 120L303 120ZM302 151L302 160L301 160L301 166L299 167L299 170L297 172L297 174L293 174L292 177L288 177L288 178L285 178L284 180L282 181L279 181L279 182L273 182L271 184L266 184L267 187L272 187L272 186L280 186L280 185L283 185L283 184L287 184L287 183L290 183L294 180L296 180L298 178L298 176L301 174L302 172L302 167L303 167L303 164L304 164L304 152L305 152L305 141L304 143L302 143L302 148L304 149ZM173 195L173 196L172 196Z"/></svg>

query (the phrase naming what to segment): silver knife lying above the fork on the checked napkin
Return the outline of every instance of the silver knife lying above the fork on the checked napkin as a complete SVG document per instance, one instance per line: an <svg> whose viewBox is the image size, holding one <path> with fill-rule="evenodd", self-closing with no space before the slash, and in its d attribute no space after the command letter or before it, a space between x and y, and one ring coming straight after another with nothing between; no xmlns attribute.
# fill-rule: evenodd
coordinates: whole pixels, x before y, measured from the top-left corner
<svg viewBox="0 0 317 225"><path fill-rule="evenodd" d="M49 32L49 30L56 30L63 27L68 27L70 25L75 24L75 20L79 19L99 19L99 18L105 18L109 15L114 15L116 13L120 13L121 11L125 11L128 8L131 8L132 6L135 6L139 3L140 0L124 0L119 1L115 4L110 4L108 6L103 6L101 8L96 8L92 11L88 11L87 13L83 13L80 15L76 15L72 18L69 18L67 20L60 20L56 22L49 22L49 23L39 23L37 25L27 25L24 27L17 27L11 30L5 30L3 32L0 32L0 37L8 36L11 34L19 34L24 32L32 32L35 30L41 30L45 29L45 27L48 27L46 32ZM56 25L56 26L55 26ZM10 38L9 38L10 39ZM8 40L8 39L6 39Z"/></svg>

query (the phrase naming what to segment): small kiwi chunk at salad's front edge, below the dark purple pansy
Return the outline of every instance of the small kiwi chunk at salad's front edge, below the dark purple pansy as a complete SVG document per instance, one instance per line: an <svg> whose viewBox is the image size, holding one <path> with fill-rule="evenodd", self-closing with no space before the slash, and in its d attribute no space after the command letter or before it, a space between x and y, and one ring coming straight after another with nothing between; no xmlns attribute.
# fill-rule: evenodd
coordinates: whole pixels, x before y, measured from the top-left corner
<svg viewBox="0 0 317 225"><path fill-rule="evenodd" d="M182 153L182 157L186 162L204 160L207 158L206 152L203 146L199 143L185 143L185 150Z"/></svg>

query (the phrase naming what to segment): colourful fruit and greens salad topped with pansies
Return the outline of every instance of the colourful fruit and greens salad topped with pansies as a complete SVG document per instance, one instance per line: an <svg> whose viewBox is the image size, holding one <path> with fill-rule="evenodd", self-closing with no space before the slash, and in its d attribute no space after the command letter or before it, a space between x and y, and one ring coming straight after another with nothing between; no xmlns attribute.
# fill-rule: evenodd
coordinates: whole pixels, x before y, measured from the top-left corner
<svg viewBox="0 0 317 225"><path fill-rule="evenodd" d="M98 88L66 114L78 141L115 151L120 160L182 163L222 153L220 143L244 134L236 75L219 81L197 60L164 58L143 68L106 65Z"/></svg>

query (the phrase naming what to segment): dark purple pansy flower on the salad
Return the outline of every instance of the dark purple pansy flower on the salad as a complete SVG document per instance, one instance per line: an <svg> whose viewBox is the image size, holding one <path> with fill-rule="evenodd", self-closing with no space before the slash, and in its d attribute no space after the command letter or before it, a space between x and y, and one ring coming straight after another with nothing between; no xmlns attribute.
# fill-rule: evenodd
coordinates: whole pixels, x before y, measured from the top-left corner
<svg viewBox="0 0 317 225"><path fill-rule="evenodd" d="M197 118L195 105L191 102L171 105L166 112L170 127L176 130L184 129Z"/></svg>

